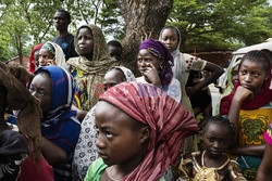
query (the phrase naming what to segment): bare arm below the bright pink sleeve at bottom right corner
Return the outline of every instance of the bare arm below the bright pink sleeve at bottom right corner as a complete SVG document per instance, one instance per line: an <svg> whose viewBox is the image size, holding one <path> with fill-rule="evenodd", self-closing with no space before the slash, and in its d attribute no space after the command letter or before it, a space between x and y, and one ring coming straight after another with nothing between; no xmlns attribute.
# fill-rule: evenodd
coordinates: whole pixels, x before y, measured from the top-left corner
<svg viewBox="0 0 272 181"><path fill-rule="evenodd" d="M267 144L261 165L258 169L256 181L272 180L272 146Z"/></svg>

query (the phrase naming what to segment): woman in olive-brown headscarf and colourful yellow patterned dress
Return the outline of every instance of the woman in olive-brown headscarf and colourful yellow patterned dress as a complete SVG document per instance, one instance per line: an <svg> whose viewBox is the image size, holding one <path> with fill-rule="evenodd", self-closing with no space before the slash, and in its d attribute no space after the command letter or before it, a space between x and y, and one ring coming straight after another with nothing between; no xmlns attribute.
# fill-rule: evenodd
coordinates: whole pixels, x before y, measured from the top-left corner
<svg viewBox="0 0 272 181"><path fill-rule="evenodd" d="M84 25L77 29L75 50L79 57L70 59L67 64L77 85L76 107L84 111L77 118L83 119L98 101L95 96L96 83L103 81L104 74L116 61L109 56L103 33L96 25Z"/></svg>

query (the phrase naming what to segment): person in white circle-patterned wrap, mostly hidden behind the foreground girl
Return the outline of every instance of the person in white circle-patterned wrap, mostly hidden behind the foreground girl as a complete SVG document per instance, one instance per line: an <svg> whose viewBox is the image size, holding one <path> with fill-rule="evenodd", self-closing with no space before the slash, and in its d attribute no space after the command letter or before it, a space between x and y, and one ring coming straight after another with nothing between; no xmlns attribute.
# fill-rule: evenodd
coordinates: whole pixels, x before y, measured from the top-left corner
<svg viewBox="0 0 272 181"><path fill-rule="evenodd" d="M104 75L103 85L99 92L103 92L123 81L135 81L134 74L126 67L114 66ZM98 158L96 148L97 131L95 128L96 105L88 112L82 122L82 131L75 146L73 158L73 179L84 180L88 166Z"/></svg>

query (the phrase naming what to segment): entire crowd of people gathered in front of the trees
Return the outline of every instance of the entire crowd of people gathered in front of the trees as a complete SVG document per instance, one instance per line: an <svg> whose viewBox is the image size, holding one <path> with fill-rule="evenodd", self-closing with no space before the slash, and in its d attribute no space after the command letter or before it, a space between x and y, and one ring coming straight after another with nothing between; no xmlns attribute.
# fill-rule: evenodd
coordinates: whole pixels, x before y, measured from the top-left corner
<svg viewBox="0 0 272 181"><path fill-rule="evenodd" d="M233 63L213 107L224 70L182 53L176 27L140 42L135 77L98 26L53 23L29 69L0 63L0 180L272 180L271 52Z"/></svg>

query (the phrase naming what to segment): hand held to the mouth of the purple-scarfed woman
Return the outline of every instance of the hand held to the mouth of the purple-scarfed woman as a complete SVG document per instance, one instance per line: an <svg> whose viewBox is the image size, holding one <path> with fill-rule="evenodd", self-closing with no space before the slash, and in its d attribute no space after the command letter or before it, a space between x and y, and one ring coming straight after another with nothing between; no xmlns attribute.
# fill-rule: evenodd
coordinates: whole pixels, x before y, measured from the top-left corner
<svg viewBox="0 0 272 181"><path fill-rule="evenodd" d="M161 80L159 77L159 73L153 64L148 64L147 70L144 73L145 78L149 83L153 86L161 86Z"/></svg>

